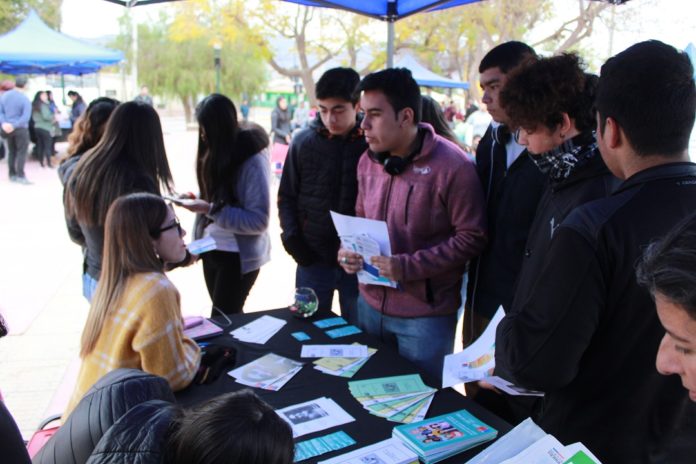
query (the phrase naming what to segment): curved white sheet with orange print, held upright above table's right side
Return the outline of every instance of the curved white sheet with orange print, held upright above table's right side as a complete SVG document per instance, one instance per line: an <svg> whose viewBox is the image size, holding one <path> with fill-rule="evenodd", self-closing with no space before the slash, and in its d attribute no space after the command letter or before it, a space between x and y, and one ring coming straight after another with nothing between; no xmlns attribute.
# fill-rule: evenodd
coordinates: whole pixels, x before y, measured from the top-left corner
<svg viewBox="0 0 696 464"><path fill-rule="evenodd" d="M481 380L491 375L495 367L495 329L504 316L501 306L474 343L459 353L445 356L442 388Z"/></svg>

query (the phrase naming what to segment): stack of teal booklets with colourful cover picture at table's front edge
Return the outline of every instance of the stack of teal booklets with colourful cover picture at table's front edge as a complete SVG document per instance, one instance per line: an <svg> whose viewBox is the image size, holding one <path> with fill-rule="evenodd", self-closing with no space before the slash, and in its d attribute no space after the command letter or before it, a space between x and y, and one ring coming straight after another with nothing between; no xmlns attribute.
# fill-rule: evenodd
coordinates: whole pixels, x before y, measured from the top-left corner
<svg viewBox="0 0 696 464"><path fill-rule="evenodd" d="M493 440L497 435L497 430L464 409L413 424L399 425L392 430L392 436L403 441L425 464L447 459Z"/></svg>

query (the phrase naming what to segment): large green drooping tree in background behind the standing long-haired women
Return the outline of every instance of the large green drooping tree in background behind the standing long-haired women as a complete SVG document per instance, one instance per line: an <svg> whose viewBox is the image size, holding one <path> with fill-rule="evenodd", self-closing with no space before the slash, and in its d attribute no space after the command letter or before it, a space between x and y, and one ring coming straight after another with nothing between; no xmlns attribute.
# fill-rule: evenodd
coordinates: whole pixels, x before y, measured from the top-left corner
<svg viewBox="0 0 696 464"><path fill-rule="evenodd" d="M234 15L227 6L195 0L182 2L173 17L138 26L138 78L152 93L179 98L186 121L193 120L193 107L199 96L215 91L213 43L221 45L220 91L238 99L258 93L266 80L265 51L240 26L231 25ZM226 28L234 29L230 33ZM122 32L113 46L130 54L130 25L122 18ZM250 40L250 38L252 40Z"/></svg>

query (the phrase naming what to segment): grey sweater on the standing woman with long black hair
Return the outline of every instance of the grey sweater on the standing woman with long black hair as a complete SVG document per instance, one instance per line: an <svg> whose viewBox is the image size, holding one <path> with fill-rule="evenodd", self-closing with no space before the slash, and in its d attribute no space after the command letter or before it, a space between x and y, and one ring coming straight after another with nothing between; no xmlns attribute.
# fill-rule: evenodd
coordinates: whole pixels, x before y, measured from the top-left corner
<svg viewBox="0 0 696 464"><path fill-rule="evenodd" d="M208 217L234 235L239 245L242 274L259 269L271 259L268 223L271 212L271 164L264 149L242 164L234 180L237 205L225 205Z"/></svg>

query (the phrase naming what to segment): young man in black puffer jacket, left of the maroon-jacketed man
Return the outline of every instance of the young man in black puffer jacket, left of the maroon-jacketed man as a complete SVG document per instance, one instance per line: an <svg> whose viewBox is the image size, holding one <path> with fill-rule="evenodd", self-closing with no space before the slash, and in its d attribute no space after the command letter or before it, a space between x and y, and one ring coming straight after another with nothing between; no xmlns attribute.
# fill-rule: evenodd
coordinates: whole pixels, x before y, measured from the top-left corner
<svg viewBox="0 0 696 464"><path fill-rule="evenodd" d="M355 215L358 160L367 149L354 90L360 76L334 68L317 81L319 115L292 140L278 190L281 238L297 262L295 284L311 287L319 311L331 311L335 290L341 315L355 322L358 283L337 264L339 239L329 211Z"/></svg>

